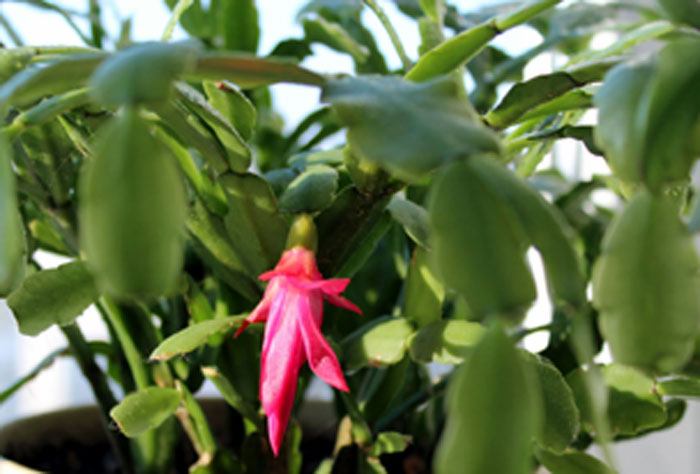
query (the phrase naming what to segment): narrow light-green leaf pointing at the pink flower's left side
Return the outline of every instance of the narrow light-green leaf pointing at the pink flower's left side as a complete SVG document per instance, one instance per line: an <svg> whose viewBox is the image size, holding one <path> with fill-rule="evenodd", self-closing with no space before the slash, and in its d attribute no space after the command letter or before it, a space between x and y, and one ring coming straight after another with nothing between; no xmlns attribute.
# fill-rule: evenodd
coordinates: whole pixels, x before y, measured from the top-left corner
<svg viewBox="0 0 700 474"><path fill-rule="evenodd" d="M221 332L240 325L245 316L229 316L193 324L176 332L158 344L150 355L151 360L168 360L175 356L192 352L207 340Z"/></svg>

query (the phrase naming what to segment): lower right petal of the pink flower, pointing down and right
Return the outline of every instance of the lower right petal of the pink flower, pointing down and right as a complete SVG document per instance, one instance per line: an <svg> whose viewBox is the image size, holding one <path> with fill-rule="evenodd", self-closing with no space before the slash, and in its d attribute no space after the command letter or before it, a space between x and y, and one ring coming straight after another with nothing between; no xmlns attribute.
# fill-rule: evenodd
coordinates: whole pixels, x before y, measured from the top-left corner
<svg viewBox="0 0 700 474"><path fill-rule="evenodd" d="M317 321L320 321L323 311L323 301L320 298L305 298L305 311L299 315L298 323L304 352L311 370L324 382L344 392L349 392L338 358L321 334Z"/></svg>

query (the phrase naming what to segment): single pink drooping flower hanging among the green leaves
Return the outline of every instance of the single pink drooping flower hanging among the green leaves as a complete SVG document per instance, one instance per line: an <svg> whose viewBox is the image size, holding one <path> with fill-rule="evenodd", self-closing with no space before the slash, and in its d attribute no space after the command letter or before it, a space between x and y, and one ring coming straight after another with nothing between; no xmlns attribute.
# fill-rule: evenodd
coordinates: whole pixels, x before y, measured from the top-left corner
<svg viewBox="0 0 700 474"><path fill-rule="evenodd" d="M260 365L260 401L267 415L272 451L277 456L292 411L299 370L308 361L327 384L348 392L333 350L321 334L324 298L331 304L362 314L340 296L349 278L324 280L313 252L303 247L285 251L274 270L260 275L270 283L243 325L267 321Z"/></svg>

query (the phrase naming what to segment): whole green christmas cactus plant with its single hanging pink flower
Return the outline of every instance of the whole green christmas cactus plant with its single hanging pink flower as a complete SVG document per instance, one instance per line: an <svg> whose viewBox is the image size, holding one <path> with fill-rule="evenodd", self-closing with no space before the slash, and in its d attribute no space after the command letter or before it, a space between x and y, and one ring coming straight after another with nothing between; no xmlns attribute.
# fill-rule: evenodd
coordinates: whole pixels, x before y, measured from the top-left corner
<svg viewBox="0 0 700 474"><path fill-rule="evenodd" d="M106 32L99 0L89 32L29 3L85 45L25 46L0 17L0 295L22 334L65 334L122 472L173 472L185 443L196 473L612 473L611 443L700 396L696 1L394 0L419 51L375 0L311 0L272 51L270 2L166 0L140 44ZM170 41L178 24L191 39ZM494 46L521 25L542 41ZM304 66L318 44L355 73ZM525 78L542 53L558 66ZM291 131L276 83L319 94ZM561 172L573 156L545 158L564 139L611 173ZM42 269L39 250L70 262ZM526 326L538 292L549 322ZM90 305L107 343L78 325ZM314 374L337 417L311 453L295 413ZM212 434L206 380L236 442ZM0 400L21 387L5 382Z"/></svg>

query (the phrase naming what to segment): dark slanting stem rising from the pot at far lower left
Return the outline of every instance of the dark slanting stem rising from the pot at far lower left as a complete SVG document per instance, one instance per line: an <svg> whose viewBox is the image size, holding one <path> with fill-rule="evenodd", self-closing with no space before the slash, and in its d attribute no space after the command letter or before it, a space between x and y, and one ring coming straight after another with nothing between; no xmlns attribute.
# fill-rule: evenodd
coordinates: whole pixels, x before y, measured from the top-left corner
<svg viewBox="0 0 700 474"><path fill-rule="evenodd" d="M97 400L97 405L100 408L100 419L102 420L105 433L107 434L107 439L117 454L122 469L126 473L134 472L131 464L129 440L122 436L121 433L111 429L110 426L111 418L109 416L109 411L117 404L117 400L114 398L114 394L107 384L104 373L95 363L94 354L88 342L75 323L69 324L68 326L61 326L61 331L63 331L63 334L66 336L71 347L71 352L75 360L78 361L80 370L92 388L92 392Z"/></svg>

